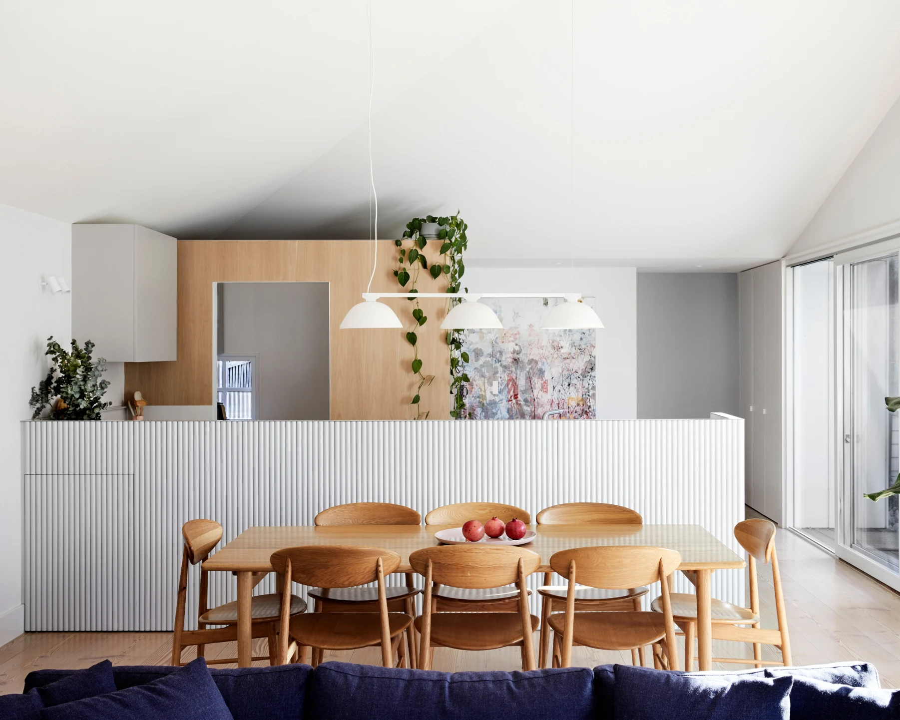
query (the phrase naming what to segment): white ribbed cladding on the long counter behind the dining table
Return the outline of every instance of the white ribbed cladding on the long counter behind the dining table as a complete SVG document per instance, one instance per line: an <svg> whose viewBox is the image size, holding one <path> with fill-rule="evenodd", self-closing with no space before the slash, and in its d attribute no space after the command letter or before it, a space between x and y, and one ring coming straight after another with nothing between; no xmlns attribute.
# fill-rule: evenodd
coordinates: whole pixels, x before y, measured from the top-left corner
<svg viewBox="0 0 900 720"><path fill-rule="evenodd" d="M25 422L23 464L27 630L170 630L186 520L217 520L228 542L345 502L423 517L471 500L532 516L612 502L743 556L741 419ZM214 605L236 598L229 573L210 586ZM742 571L713 574L716 598L743 603L743 586ZM274 590L270 577L256 592Z"/></svg>

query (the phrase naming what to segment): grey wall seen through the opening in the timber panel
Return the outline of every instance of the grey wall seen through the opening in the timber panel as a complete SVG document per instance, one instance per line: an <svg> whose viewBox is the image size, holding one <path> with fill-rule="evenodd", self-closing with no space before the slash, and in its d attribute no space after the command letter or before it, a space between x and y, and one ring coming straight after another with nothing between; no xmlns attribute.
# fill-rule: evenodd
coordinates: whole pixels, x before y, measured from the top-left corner
<svg viewBox="0 0 900 720"><path fill-rule="evenodd" d="M329 419L329 284L220 283L219 347L258 355L259 419Z"/></svg>

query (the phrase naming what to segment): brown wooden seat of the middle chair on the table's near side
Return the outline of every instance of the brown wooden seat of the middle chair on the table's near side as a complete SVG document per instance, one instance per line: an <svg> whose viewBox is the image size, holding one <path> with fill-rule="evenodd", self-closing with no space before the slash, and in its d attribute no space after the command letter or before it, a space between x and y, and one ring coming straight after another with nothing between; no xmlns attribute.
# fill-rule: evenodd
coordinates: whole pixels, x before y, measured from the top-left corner
<svg viewBox="0 0 900 720"><path fill-rule="evenodd" d="M534 632L540 620L531 616ZM422 632L422 616L416 617ZM522 642L522 616L518 613L434 613L431 642L456 650L494 650Z"/></svg>

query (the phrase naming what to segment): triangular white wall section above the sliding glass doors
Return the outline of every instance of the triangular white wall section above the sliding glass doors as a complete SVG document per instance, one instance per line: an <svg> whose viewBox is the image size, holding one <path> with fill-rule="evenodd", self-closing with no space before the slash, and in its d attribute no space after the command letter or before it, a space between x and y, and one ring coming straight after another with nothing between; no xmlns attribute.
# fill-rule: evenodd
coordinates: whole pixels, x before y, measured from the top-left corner
<svg viewBox="0 0 900 720"><path fill-rule="evenodd" d="M900 100L887 112L788 255L827 246L898 220Z"/></svg>

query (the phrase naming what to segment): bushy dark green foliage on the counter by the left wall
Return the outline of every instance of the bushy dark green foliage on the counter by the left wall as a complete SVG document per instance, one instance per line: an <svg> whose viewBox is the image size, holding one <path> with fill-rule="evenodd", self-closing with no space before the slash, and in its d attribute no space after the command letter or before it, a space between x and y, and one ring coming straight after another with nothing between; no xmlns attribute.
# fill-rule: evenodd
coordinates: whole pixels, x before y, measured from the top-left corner
<svg viewBox="0 0 900 720"><path fill-rule="evenodd" d="M50 405L51 420L99 420L100 411L112 405L101 398L108 380L100 376L106 370L106 361L99 357L92 359L94 343L85 341L85 347L78 347L72 340L72 352L67 353L51 335L47 338L47 352L53 358L53 365L47 377L31 388L28 404L34 409L31 419L40 418L40 413ZM55 400L58 398L58 400Z"/></svg>

